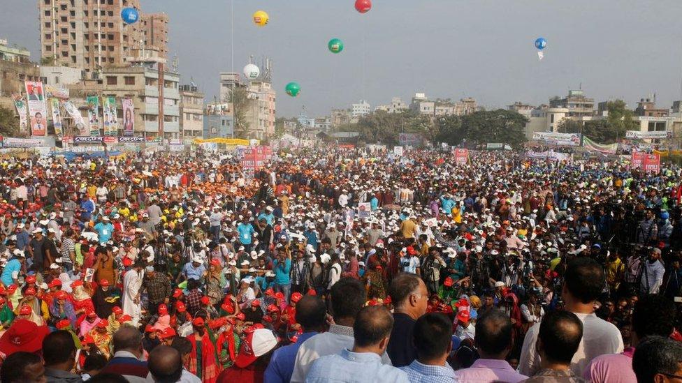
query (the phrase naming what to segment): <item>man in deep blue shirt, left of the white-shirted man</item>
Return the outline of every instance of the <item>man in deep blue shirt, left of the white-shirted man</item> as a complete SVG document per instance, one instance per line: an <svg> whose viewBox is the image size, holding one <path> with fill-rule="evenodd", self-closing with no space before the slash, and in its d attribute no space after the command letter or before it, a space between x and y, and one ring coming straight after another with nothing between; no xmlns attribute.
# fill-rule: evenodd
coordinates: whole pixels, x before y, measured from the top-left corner
<svg viewBox="0 0 682 383"><path fill-rule="evenodd" d="M305 295L296 303L296 323L303 328L303 333L291 345L275 350L264 376L265 383L288 383L293 374L293 364L300 345L308 338L324 331L326 324L326 307L318 296Z"/></svg>

